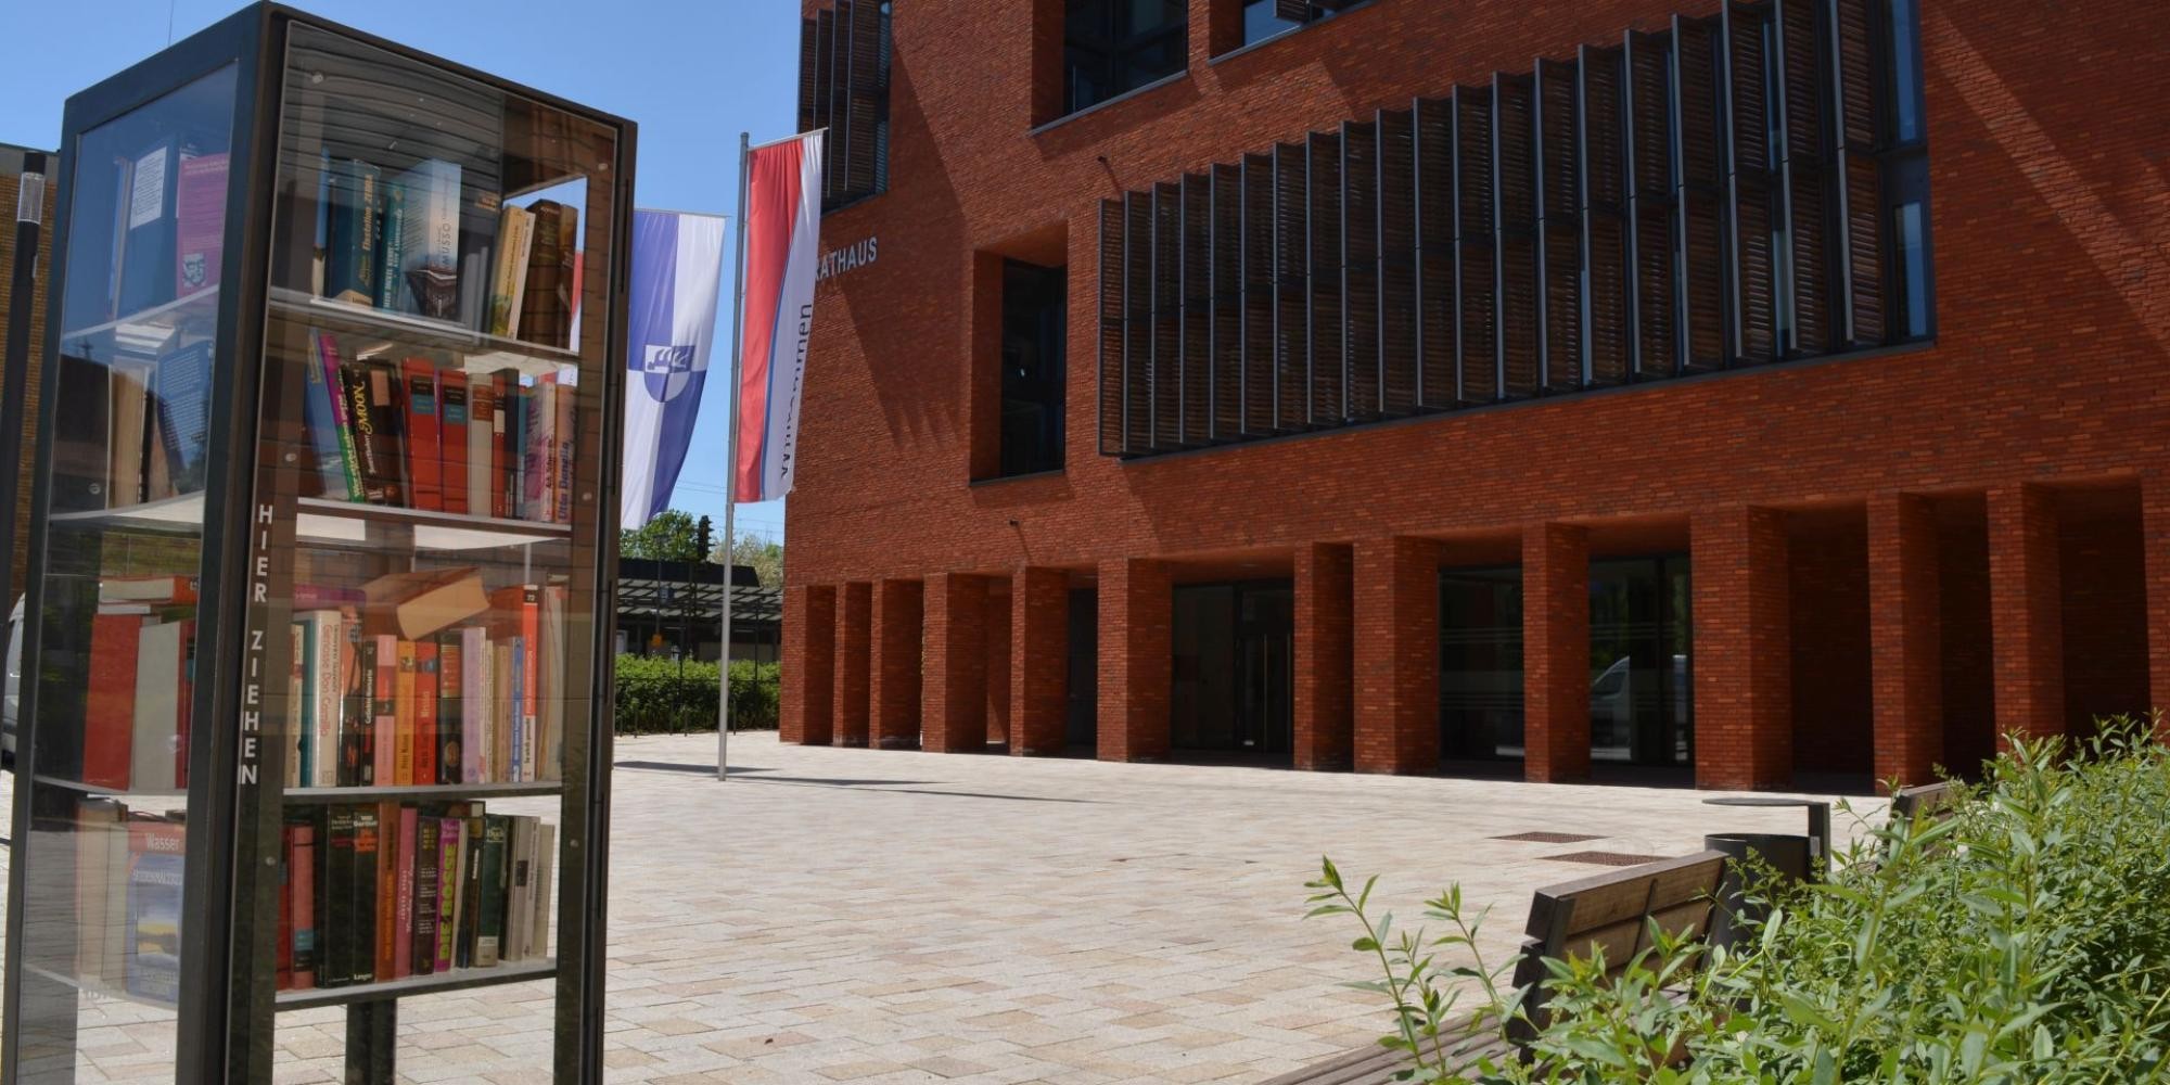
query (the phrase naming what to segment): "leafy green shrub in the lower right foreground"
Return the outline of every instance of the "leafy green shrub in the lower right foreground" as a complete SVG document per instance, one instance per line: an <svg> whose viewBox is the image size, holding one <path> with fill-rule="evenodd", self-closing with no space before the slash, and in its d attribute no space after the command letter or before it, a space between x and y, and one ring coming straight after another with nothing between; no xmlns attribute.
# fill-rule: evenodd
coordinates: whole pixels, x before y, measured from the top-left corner
<svg viewBox="0 0 2170 1085"><path fill-rule="evenodd" d="M1332 864L1313 901L1365 922L1356 948L1387 979L1363 987L1395 1003L1382 1044L1426 1052L1413 1081L2170 1081L2170 755L2148 720L2077 749L2012 742L1951 820L1877 820L1732 950L1660 940L1610 981L1604 961L1545 961L1549 1020L1504 1065L1452 1048L1528 1026L1497 983L1512 961L1450 972L1482 981L1473 1018L1434 1011L1430 953L1476 948L1458 892L1430 903L1452 935L1391 944L1369 885L1350 894Z"/></svg>

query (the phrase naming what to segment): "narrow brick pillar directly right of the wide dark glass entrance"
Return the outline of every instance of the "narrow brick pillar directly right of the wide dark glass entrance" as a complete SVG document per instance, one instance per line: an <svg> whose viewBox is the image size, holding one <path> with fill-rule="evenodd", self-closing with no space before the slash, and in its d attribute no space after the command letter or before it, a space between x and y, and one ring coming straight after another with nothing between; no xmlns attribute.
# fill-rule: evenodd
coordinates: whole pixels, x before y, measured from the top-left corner
<svg viewBox="0 0 2170 1085"><path fill-rule="evenodd" d="M1345 542L1295 547L1295 768L1313 773L1356 764L1350 716L1354 564Z"/></svg>

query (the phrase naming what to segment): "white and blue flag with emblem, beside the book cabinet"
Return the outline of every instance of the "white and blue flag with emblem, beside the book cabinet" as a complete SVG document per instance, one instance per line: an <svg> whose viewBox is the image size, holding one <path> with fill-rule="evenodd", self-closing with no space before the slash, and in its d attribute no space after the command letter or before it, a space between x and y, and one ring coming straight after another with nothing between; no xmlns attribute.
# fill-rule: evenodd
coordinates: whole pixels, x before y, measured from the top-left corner
<svg viewBox="0 0 2170 1085"><path fill-rule="evenodd" d="M640 527L671 506L701 412L720 284L720 215L634 210L623 527Z"/></svg>

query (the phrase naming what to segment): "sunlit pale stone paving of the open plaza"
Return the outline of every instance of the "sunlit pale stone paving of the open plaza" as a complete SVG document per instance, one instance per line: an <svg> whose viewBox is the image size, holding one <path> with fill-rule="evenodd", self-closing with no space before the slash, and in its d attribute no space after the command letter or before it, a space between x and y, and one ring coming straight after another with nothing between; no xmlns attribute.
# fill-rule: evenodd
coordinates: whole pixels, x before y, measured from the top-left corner
<svg viewBox="0 0 2170 1085"><path fill-rule="evenodd" d="M1801 825L1693 790L801 749L773 733L733 738L740 768L718 786L714 749L618 740L612 1083L1261 1081L1387 1024L1374 996L1337 987L1367 979L1345 920L1300 918L1322 853L1382 872L1402 920L1460 881L1495 909L1484 942L1504 957L1532 888L1601 870L1560 855L1680 855L1706 831ZM1530 831L1593 840L1497 840ZM536 1085L549 996L525 983L401 1003L401 1076ZM87 1037L95 1072L78 1081L132 1078L171 1026L106 1031ZM278 1081L339 1081L343 1039L341 1011L280 1016Z"/></svg>

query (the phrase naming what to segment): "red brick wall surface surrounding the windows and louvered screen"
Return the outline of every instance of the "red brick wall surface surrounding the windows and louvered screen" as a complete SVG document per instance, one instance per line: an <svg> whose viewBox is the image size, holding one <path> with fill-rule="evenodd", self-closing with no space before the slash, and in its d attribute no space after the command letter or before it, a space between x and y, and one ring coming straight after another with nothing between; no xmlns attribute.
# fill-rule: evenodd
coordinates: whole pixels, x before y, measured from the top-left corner
<svg viewBox="0 0 2170 1085"><path fill-rule="evenodd" d="M2005 575L2009 547L1992 545L1992 536L2018 538L2009 508L1988 501L2005 510L1996 532L1986 512L1973 510L1983 508L1986 493L2016 493L2020 484L2131 484L2161 471L2170 271L2142 224L2159 221L2170 202L2153 165L2170 145L2170 115L2153 108L2170 95L2170 35L2120 30L2159 20L2137 0L2111 0L2085 20L2044 20L2038 4L2020 0L1923 0L1940 269L1940 339L1929 347L1170 458L1122 462L1096 454L1100 200L1417 93L1480 85L1493 69L1523 69L1539 54L1617 41L1623 28L1662 26L1673 11L1714 9L1716 0L1593 0L1536 11L1374 0L1209 63L1211 41L1226 43L1237 7L1194 0L1183 78L1037 132L1035 122L1052 115L1046 76L1059 52L1055 0L901 9L892 189L822 224L831 245L879 234L883 260L818 286L790 506L790 582L931 573L1007 579L1024 566L1087 571L1133 558L1180 566L1230 551L1285 558L1319 540L1454 540L1519 534L1534 523L1595 532L1701 519L1710 510L1740 519L1725 558L1734 562L1753 549L1751 508L1814 510L1923 493L1936 495L1938 508L1942 760L1970 764L1981 736L1994 733L1992 718L2062 727L2064 686L2051 697L2051 686L2038 681L2066 671L2062 644L2038 651L2062 638L2062 588L2051 597L2040 590L2042 575L2055 579L2062 551L2022 562L2035 579L2031 588L2014 586ZM2081 69L2088 78L2072 78ZM2083 152L2075 143L2081 135ZM976 286L985 284L987 254L1044 237L1063 239L1072 276L1065 471L970 486L974 432L985 432L983 421L974 425L974 404L987 401L994 371L985 336L974 334L985 326L974 319L974 306L985 304ZM983 443L979 449L983 460ZM2146 521L2157 525L2150 538L2170 538L2163 503L2148 506L2157 508ZM1428 770L1437 707L1430 697L1419 705L1417 684L1437 675L1417 651L1432 636L1419 629L1432 592L1428 575L1415 573L1421 562L1395 562L1393 547L1380 547L1358 545L1354 556L1354 760L1374 770ZM2161 549L2150 545L2142 556L2150 562L2146 605L2170 614ZM2001 553L1996 562L1992 551ZM1697 746L1706 781L1775 781L1790 770L1792 686L1769 675L1769 662L1719 651L1743 642L1727 638L1769 634L1788 644L1784 660L1795 662L1790 612L1769 629L1749 621L1775 595L1799 595L1777 569L1773 586L1695 560ZM1400 577L1404 590L1389 601L1374 575ZM1734 599L1734 588L1753 588L1764 601ZM1031 614L1009 603L1011 618ZM1803 621L1814 614L1810 608ZM2170 627L2159 614L2150 631ZM2027 649L1999 634L1992 651L1992 627L2012 631L2016 623L2035 623L2027 625L2031 634L2012 634ZM994 686L1033 677L1044 686L1039 697L1059 690L1059 651L1052 660L1016 658L1016 649L1059 640L1059 629L1050 636L1044 625L1007 631L1013 651L992 660L998 671L990 673L990 697L1011 705L1011 725L1022 705L1046 701L1026 697L1033 690L1022 684L1007 694ZM2170 690L2163 640L2170 636L2148 644L2157 699ZM2016 675L2005 666L2012 658L2042 666L2029 662ZM2129 662L2116 666L2120 675L2131 671ZM1858 675L1858 664L1847 673ZM1721 675L1749 688L1716 681ZM1858 707L1862 686L1849 681L1844 701ZM1992 699L1992 686L2005 697ZM1044 718L1059 731L1059 699ZM998 718L990 725L1005 736L1013 729ZM1812 742L1801 749L1816 755ZM1727 757L1745 762L1727 768Z"/></svg>

